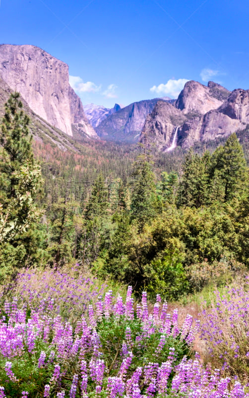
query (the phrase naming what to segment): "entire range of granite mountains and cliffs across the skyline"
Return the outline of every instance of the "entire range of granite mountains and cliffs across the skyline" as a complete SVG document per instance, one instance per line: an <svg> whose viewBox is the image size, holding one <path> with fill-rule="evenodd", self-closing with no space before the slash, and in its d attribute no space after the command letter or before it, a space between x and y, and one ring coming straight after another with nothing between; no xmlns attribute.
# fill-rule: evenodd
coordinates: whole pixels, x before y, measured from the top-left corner
<svg viewBox="0 0 249 398"><path fill-rule="evenodd" d="M223 139L249 124L249 90L230 92L214 82L188 81L177 100L141 100L111 109L89 104L85 114L69 85L68 66L32 45L0 45L2 99L10 91L20 92L33 118L33 134L63 149L74 147L69 137L125 143L146 139L164 152Z"/></svg>

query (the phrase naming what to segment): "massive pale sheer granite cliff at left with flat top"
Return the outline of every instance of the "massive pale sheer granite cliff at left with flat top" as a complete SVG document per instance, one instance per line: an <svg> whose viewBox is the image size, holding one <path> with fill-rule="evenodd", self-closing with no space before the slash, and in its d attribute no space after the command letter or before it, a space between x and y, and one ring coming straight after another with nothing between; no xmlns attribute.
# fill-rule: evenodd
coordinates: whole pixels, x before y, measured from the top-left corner
<svg viewBox="0 0 249 398"><path fill-rule="evenodd" d="M0 45L0 77L36 114L66 134L72 136L71 123L76 118L85 119L85 134L96 135L79 99L75 106L77 96L69 86L68 66L46 51L32 45Z"/></svg>

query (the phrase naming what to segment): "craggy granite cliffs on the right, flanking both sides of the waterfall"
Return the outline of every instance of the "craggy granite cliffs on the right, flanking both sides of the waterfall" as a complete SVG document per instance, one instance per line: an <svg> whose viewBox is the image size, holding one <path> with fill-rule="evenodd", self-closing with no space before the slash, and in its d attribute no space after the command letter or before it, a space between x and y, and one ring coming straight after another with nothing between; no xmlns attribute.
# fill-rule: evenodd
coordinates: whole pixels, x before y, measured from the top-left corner
<svg viewBox="0 0 249 398"><path fill-rule="evenodd" d="M147 116L140 141L144 141L146 133L148 143L156 143L159 150L166 150L176 127L177 145L185 148L197 141L228 137L249 123L249 90L237 89L231 93L217 83L209 82L205 87L190 81L176 101L177 120L172 118L176 115L172 108L174 104L157 103Z"/></svg>

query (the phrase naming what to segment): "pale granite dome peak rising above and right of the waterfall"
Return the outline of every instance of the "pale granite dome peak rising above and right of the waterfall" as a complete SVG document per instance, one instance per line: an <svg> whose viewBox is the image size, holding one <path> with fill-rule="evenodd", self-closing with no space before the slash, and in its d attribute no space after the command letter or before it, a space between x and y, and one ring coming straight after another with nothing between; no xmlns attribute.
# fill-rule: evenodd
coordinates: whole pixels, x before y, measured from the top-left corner
<svg viewBox="0 0 249 398"><path fill-rule="evenodd" d="M222 104L222 100L212 96L209 87L203 86L193 80L186 83L179 94L176 107L183 113L197 112L204 114L211 109L216 109Z"/></svg>

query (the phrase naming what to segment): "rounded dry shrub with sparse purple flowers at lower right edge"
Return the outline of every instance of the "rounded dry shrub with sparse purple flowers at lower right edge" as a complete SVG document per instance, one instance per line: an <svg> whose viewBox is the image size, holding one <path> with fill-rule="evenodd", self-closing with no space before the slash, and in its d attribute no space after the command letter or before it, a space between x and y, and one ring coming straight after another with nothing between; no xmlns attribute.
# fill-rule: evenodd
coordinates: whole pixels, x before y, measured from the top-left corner
<svg viewBox="0 0 249 398"><path fill-rule="evenodd" d="M247 277L248 278L248 277ZM206 341L212 363L224 374L249 380L249 294L243 287L215 292L203 310L201 337Z"/></svg>

